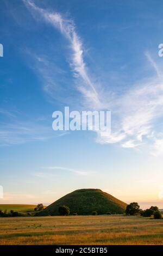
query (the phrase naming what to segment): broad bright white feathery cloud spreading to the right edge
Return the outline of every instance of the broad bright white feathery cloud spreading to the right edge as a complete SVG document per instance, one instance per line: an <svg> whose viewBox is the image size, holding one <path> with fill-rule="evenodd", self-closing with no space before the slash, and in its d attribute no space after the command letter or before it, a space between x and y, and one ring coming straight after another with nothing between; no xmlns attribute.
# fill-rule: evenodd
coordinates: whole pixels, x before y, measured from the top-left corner
<svg viewBox="0 0 163 256"><path fill-rule="evenodd" d="M116 116L115 120L112 119L112 133L99 132L98 142L120 143L123 148L135 148L148 140L159 148L160 140L156 143L154 134L157 121L163 115L163 80L149 53L147 59L157 76L146 78L123 95L116 96L115 106L112 106L112 115Z"/></svg>

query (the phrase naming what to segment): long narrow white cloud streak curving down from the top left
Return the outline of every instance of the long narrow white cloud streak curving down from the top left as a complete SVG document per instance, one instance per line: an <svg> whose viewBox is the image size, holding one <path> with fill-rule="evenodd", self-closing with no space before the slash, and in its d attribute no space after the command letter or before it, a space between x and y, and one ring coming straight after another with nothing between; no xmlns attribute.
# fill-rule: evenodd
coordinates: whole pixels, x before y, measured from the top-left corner
<svg viewBox="0 0 163 256"><path fill-rule="evenodd" d="M94 103L96 106L101 106L96 86L93 84L89 74L87 73L86 64L83 58L82 40L80 40L76 32L76 27L74 26L73 21L65 19L59 13L41 9L31 0L23 0L23 2L30 11L35 11L37 14L41 15L47 23L59 29L61 34L69 41L72 50L70 65L73 69L73 75L76 78L82 78L84 82L83 84L80 84L80 86L78 85L78 90L86 97L87 100L90 100L92 104ZM48 89L48 87L46 89Z"/></svg>

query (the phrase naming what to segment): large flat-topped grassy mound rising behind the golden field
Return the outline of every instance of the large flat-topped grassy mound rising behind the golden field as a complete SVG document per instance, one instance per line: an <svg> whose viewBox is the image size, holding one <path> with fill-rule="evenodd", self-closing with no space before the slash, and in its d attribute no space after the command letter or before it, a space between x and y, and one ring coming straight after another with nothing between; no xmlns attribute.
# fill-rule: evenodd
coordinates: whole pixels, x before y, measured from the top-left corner
<svg viewBox="0 0 163 256"><path fill-rule="evenodd" d="M91 215L93 211L101 214L123 214L127 204L105 193L99 189L82 189L73 191L66 196L61 197L56 202L47 206L36 216L59 215L60 205L66 205L70 208L70 214L76 212L78 215Z"/></svg>

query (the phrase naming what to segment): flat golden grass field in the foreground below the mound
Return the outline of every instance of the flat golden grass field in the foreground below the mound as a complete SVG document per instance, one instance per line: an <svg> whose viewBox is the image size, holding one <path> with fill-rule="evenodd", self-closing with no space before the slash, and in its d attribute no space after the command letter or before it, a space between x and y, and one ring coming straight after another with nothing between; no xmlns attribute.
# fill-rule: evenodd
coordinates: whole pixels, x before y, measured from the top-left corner
<svg viewBox="0 0 163 256"><path fill-rule="evenodd" d="M163 245L163 220L140 216L0 218L0 245Z"/></svg>

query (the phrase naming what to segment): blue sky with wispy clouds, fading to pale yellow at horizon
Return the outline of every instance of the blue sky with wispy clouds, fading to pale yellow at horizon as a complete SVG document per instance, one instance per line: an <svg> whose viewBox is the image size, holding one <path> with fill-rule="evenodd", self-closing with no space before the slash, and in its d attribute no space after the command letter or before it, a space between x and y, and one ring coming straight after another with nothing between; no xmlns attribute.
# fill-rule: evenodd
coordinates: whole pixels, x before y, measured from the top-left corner
<svg viewBox="0 0 163 256"><path fill-rule="evenodd" d="M100 188L163 209L161 1L1 0L0 204ZM111 133L54 111L111 111Z"/></svg>

